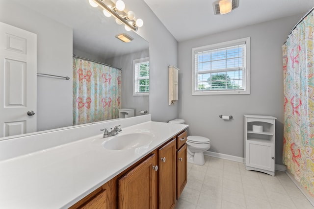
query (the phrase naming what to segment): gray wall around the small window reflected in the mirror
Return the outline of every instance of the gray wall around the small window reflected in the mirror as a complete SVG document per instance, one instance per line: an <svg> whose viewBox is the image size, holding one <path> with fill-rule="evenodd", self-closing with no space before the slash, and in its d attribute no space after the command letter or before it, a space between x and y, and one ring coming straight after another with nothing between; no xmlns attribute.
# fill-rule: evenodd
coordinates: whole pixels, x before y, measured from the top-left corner
<svg viewBox="0 0 314 209"><path fill-rule="evenodd" d="M139 111L149 108L149 96L133 96L133 60L149 57L149 49L134 52L112 59L105 63L122 69L121 108L135 108L135 116L141 116Z"/></svg>

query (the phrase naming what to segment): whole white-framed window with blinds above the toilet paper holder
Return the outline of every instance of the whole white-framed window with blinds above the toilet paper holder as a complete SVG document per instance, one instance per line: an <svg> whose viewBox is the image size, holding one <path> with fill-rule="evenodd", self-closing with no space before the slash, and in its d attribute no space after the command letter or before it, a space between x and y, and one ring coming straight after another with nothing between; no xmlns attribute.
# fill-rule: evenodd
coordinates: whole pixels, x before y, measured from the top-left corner
<svg viewBox="0 0 314 209"><path fill-rule="evenodd" d="M192 94L249 94L250 38L192 49Z"/></svg>

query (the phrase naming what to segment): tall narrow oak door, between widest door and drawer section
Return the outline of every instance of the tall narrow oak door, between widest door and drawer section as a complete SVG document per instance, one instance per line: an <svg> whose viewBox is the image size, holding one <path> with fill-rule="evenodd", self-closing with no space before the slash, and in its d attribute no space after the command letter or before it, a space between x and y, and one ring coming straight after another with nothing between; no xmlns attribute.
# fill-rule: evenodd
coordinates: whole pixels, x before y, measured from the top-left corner
<svg viewBox="0 0 314 209"><path fill-rule="evenodd" d="M158 150L159 209L173 209L176 204L176 139Z"/></svg>

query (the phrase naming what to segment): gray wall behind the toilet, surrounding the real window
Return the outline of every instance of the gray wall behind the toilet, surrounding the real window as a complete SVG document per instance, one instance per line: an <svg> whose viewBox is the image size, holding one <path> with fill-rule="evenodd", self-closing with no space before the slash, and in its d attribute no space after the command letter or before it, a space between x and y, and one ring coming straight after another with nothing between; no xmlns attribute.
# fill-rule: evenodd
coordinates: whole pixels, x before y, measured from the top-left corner
<svg viewBox="0 0 314 209"><path fill-rule="evenodd" d="M179 117L189 135L208 137L209 151L244 156L244 114L270 115L276 120L275 163L282 164L282 48L302 14L255 24L179 43ZM249 95L191 95L192 48L251 37ZM234 118L222 120L219 115Z"/></svg>

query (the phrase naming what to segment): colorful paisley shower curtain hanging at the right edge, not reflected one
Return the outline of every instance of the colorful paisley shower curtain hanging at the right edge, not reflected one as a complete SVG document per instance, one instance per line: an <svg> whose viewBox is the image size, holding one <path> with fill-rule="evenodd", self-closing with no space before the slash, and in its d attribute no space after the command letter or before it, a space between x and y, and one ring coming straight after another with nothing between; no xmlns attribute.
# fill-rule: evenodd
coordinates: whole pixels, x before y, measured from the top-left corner
<svg viewBox="0 0 314 209"><path fill-rule="evenodd" d="M288 36L284 61L283 163L314 196L314 14Z"/></svg>

